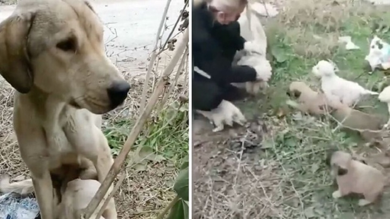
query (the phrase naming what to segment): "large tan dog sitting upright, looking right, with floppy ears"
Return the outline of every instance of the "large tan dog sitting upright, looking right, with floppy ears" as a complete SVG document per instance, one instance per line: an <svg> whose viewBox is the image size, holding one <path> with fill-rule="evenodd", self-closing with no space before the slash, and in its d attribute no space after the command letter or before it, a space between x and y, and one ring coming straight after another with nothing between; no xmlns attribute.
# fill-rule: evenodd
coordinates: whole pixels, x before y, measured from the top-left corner
<svg viewBox="0 0 390 219"><path fill-rule="evenodd" d="M86 157L102 182L113 163L101 116L129 91L83 0L21 0L0 23L0 73L18 92L14 129L42 219L55 218L51 174ZM110 219L117 218L116 210Z"/></svg>

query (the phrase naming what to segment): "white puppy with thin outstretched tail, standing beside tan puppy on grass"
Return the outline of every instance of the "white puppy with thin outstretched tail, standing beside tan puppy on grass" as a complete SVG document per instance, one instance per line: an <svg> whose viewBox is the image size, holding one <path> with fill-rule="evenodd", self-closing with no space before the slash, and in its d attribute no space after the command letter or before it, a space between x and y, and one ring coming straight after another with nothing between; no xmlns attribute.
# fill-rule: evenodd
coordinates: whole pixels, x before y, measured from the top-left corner
<svg viewBox="0 0 390 219"><path fill-rule="evenodd" d="M360 86L353 81L347 81L336 75L337 67L332 62L321 60L312 68L312 72L321 78L321 88L330 101L341 101L343 104L352 106L360 100L362 95L378 95Z"/></svg>

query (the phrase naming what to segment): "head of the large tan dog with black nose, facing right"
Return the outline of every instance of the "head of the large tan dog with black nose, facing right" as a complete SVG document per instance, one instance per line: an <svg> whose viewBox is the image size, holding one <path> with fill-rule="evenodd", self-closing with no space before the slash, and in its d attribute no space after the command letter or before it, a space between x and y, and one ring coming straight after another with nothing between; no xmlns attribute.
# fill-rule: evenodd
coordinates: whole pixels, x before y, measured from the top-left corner
<svg viewBox="0 0 390 219"><path fill-rule="evenodd" d="M119 106L130 85L107 58L103 25L83 0L21 0L0 23L0 73L92 113Z"/></svg>

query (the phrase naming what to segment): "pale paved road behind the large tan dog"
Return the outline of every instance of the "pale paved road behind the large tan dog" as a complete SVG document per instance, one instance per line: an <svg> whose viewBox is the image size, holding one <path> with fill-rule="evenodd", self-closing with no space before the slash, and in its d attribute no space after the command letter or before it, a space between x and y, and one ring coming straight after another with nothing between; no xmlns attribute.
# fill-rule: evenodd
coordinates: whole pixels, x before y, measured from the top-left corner
<svg viewBox="0 0 390 219"><path fill-rule="evenodd" d="M156 39L166 3L166 0L92 0L91 4L105 23L107 53L117 60L137 59L145 62ZM168 26L175 23L183 6L183 0L171 1ZM15 5L0 6L0 21L14 9ZM147 46L146 49L133 51L133 48L143 46Z"/></svg>

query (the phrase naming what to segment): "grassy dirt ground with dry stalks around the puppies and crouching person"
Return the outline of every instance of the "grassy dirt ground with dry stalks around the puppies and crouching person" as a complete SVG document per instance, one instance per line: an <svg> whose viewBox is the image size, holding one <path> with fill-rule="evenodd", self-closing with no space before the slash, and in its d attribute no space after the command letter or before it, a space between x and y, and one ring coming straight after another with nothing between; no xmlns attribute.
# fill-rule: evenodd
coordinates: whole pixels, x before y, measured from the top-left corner
<svg viewBox="0 0 390 219"><path fill-rule="evenodd" d="M374 35L390 42L383 27L390 21L388 6L344 0L274 3L280 14L263 20L273 78L265 94L236 102L248 119L246 126L215 134L206 120L193 122L193 218L388 218L388 187L381 201L367 207L358 207L356 196L333 200L337 186L325 162L328 150L339 148L389 176L388 143L369 145L330 115L305 115L286 104L292 81L319 90L311 69L322 59L331 59L340 76L368 89L380 92L388 85L387 72L370 75L363 61ZM360 49L344 49L338 37L346 35ZM388 119L386 105L375 97L358 107L383 122Z"/></svg>

